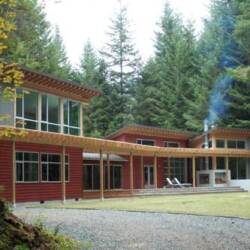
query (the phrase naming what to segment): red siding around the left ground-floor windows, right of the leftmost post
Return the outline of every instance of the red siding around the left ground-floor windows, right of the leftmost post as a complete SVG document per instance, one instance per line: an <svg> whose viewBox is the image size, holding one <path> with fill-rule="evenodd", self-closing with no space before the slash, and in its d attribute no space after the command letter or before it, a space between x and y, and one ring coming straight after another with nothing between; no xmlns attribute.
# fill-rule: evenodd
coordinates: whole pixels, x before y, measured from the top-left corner
<svg viewBox="0 0 250 250"><path fill-rule="evenodd" d="M62 148L58 146L16 143L17 151L32 151L38 153L58 153ZM66 199L80 198L82 196L82 150L78 148L66 148L66 154L69 155L69 177L66 183ZM16 200L25 201L46 201L62 199L61 183L17 183Z"/></svg>

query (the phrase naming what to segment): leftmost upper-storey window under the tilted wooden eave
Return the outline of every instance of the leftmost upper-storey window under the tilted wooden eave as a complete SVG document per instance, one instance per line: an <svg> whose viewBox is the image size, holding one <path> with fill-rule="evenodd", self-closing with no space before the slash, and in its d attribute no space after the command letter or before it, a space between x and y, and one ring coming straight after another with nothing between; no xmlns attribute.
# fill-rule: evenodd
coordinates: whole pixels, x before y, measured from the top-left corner
<svg viewBox="0 0 250 250"><path fill-rule="evenodd" d="M19 128L37 129L38 94L17 91L21 95L16 99L16 126Z"/></svg>

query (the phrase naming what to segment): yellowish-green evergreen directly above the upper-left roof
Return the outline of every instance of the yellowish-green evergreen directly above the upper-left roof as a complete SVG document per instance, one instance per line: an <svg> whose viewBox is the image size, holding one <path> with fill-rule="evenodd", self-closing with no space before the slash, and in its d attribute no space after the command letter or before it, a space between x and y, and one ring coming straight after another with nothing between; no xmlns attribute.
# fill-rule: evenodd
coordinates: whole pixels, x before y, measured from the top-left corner
<svg viewBox="0 0 250 250"><path fill-rule="evenodd" d="M10 62L59 77L67 77L69 64L58 30L51 33L50 24L37 0L19 0L15 7L16 31L8 39Z"/></svg>

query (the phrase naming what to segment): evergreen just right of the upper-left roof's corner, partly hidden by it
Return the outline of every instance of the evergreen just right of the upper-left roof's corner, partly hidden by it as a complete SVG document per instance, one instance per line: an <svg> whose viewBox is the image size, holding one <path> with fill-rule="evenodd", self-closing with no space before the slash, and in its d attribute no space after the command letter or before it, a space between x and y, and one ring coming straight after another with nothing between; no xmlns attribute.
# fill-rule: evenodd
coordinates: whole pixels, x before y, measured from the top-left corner
<svg viewBox="0 0 250 250"><path fill-rule="evenodd" d="M107 81L107 65L100 59L90 41L84 45L79 69L73 76L88 87L98 89L100 96L95 97L86 106L84 112L84 133L86 136L102 137L108 133L112 119L111 96L112 87Z"/></svg>

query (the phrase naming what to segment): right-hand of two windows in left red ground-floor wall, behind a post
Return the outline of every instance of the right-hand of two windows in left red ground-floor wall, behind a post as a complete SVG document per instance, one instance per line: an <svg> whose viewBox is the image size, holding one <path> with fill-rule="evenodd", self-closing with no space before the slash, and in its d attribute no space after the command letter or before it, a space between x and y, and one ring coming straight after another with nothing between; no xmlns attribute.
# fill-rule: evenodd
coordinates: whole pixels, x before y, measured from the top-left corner
<svg viewBox="0 0 250 250"><path fill-rule="evenodd" d="M42 181L61 181L61 156L41 154ZM65 181L69 181L69 157L65 156Z"/></svg>

